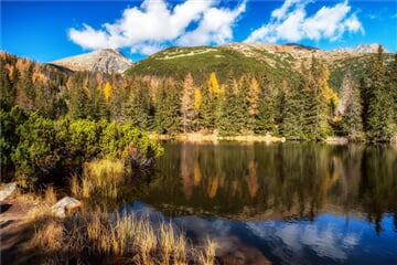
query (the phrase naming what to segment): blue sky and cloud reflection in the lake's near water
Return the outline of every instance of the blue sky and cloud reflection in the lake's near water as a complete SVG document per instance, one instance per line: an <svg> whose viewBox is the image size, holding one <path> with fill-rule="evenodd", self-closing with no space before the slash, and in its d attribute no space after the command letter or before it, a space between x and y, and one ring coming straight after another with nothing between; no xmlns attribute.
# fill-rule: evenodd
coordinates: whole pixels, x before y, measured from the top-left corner
<svg viewBox="0 0 397 265"><path fill-rule="evenodd" d="M122 211L135 211L152 221L167 220L154 208L140 202ZM172 219L194 243L211 237L224 264L396 264L397 236L393 216L377 235L373 226L356 218L320 214L313 221L232 221L184 215Z"/></svg>

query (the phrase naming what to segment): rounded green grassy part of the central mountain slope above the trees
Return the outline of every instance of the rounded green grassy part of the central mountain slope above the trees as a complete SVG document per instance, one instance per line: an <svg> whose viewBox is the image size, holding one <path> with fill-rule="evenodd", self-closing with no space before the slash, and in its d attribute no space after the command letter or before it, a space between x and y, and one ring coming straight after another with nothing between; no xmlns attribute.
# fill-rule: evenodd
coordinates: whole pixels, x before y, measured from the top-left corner
<svg viewBox="0 0 397 265"><path fill-rule="evenodd" d="M224 83L228 76L260 76L273 70L266 63L225 47L170 47L129 68L128 75L155 75L183 80L190 72L203 84L212 72Z"/></svg>

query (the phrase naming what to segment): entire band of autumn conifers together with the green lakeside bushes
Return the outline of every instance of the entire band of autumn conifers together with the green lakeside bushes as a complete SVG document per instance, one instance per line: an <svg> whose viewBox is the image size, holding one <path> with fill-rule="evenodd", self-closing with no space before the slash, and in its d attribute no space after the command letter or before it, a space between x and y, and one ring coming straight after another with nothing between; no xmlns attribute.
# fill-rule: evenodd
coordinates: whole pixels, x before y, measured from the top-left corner
<svg viewBox="0 0 397 265"><path fill-rule="evenodd" d="M0 55L1 173L8 178L122 157L131 140L142 152L160 153L142 131L373 142L397 137L397 54L386 61L382 47L358 75L345 68L339 87L330 86L329 66L314 56L276 74L229 67L181 76L72 72Z"/></svg>

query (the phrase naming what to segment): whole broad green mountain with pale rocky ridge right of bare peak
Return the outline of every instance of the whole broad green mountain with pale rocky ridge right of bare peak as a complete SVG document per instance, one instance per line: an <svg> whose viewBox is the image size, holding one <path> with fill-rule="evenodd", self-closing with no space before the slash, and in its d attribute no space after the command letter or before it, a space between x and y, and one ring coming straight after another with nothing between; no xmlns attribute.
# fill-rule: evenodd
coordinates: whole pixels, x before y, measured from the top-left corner
<svg viewBox="0 0 397 265"><path fill-rule="evenodd" d="M376 47L377 49L377 47ZM303 63L310 67L312 57L318 59L330 72L330 85L339 91L346 70L358 76L366 66L364 46L357 52L323 51L299 44L232 43L222 46L169 47L132 65L128 75L150 75L182 80L192 73L197 84L204 84L215 72L221 83L229 76L243 74L270 78L275 83L288 80L300 71ZM371 50L373 51L373 50ZM386 57L391 55L387 55ZM355 74L357 73L357 74Z"/></svg>

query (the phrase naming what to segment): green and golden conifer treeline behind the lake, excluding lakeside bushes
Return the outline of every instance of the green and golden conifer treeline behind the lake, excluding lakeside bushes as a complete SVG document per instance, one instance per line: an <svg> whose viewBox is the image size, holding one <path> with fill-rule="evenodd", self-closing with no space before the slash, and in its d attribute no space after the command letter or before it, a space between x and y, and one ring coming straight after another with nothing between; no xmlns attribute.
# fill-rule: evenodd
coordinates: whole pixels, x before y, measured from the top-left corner
<svg viewBox="0 0 397 265"><path fill-rule="evenodd" d="M382 47L361 78L344 73L339 95L329 86L330 71L315 57L277 76L247 70L239 76L230 72L221 83L215 72L206 82L190 73L182 80L66 73L1 56L4 110L19 105L45 118L115 120L168 135L215 131L309 140L336 135L372 141L397 135L397 56L386 64Z"/></svg>

